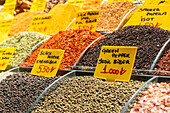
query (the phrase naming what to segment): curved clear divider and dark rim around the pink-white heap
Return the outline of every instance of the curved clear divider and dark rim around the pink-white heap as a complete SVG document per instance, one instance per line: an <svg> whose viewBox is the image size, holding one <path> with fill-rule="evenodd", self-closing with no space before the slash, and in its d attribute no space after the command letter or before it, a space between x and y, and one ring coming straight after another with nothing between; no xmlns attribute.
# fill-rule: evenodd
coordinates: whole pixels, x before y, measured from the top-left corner
<svg viewBox="0 0 170 113"><path fill-rule="evenodd" d="M154 76L150 80L148 80L142 87L140 87L136 93L131 97L131 99L126 103L125 107L121 111L121 113L129 113L130 110L134 107L134 104L138 102L138 98L143 95L143 92L147 90L148 86L153 83L170 83L170 77L168 76Z"/></svg>

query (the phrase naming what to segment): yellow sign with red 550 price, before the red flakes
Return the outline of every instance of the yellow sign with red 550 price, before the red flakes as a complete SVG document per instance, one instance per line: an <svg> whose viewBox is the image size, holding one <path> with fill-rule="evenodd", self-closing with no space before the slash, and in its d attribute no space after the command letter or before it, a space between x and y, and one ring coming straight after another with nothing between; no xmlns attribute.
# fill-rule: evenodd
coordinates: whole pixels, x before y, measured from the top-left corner
<svg viewBox="0 0 170 113"><path fill-rule="evenodd" d="M60 66L64 50L41 49L31 74L43 77L54 77Z"/></svg>

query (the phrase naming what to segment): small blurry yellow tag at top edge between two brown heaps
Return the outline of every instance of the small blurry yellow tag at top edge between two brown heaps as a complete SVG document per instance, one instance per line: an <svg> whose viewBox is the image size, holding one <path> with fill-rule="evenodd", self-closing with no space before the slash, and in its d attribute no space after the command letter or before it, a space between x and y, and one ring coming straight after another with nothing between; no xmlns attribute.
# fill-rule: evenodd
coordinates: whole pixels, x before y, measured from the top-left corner
<svg viewBox="0 0 170 113"><path fill-rule="evenodd" d="M33 0L30 11L42 11L44 12L46 0Z"/></svg>

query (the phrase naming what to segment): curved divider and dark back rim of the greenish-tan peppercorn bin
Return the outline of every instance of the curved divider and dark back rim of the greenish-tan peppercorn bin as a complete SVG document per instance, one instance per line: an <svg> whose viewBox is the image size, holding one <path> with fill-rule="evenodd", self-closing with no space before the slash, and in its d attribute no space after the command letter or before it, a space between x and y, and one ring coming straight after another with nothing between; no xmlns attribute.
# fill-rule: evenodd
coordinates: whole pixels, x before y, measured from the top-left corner
<svg viewBox="0 0 170 113"><path fill-rule="evenodd" d="M41 94L40 96L36 99L36 101L33 103L33 105L30 107L30 109L27 111L27 113L31 112L33 110L33 108L36 106L37 103L42 102L46 97L48 97L49 95L51 95L51 93L53 91L55 91L55 89L57 87L59 87L60 85L62 85L62 83L71 77L75 77L75 76L83 76L83 75L88 75L88 76L93 76L94 71L76 71L73 70L65 75L63 75L62 77L60 77L59 79L57 79L56 81L54 81L52 84L50 84ZM143 82L147 82L148 80L152 79L152 76L147 76L147 75L138 75L138 76L132 76L131 77L132 80L139 80L139 81L143 81Z"/></svg>

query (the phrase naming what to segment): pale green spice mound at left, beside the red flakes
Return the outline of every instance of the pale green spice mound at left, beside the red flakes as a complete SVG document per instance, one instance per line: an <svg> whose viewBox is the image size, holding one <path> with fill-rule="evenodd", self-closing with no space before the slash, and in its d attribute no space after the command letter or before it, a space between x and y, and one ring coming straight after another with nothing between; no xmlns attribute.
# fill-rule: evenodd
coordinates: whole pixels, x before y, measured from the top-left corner
<svg viewBox="0 0 170 113"><path fill-rule="evenodd" d="M36 44L47 38L49 38L49 36L36 32L20 32L1 43L0 48L15 47L16 50L9 65L18 66Z"/></svg>

